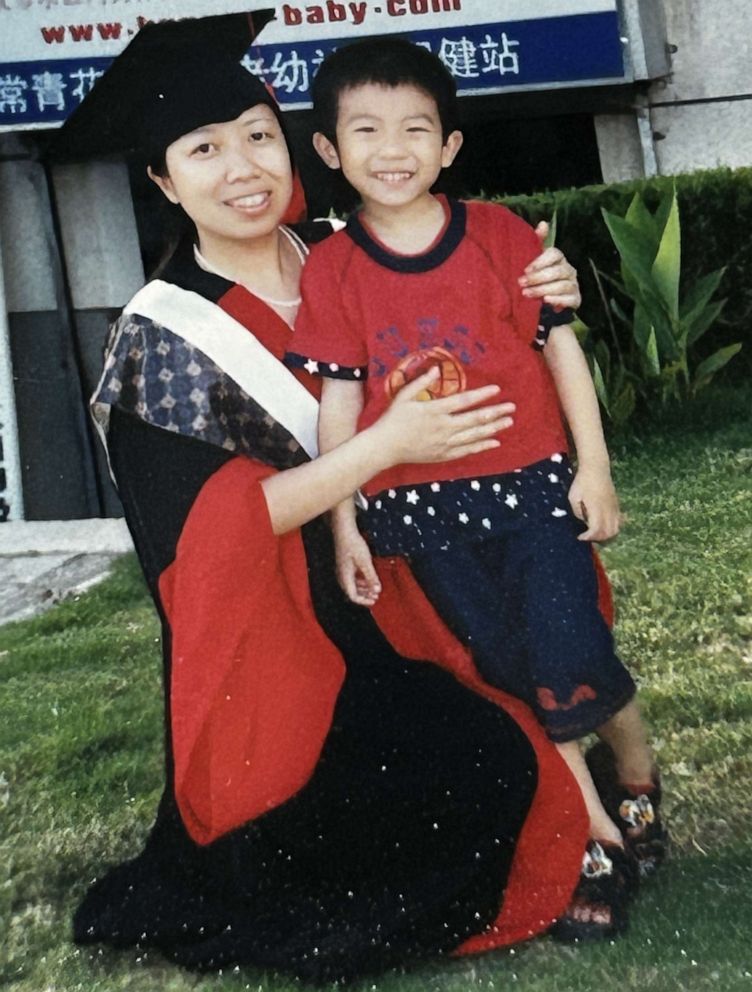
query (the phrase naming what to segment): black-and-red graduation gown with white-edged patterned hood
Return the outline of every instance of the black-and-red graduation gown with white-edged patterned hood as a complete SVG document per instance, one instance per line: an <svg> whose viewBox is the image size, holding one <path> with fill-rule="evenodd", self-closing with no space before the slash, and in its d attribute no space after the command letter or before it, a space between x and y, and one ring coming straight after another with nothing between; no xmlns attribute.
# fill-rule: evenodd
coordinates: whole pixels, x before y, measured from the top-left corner
<svg viewBox="0 0 752 992"><path fill-rule="evenodd" d="M316 453L289 335L187 252L113 328L93 409L162 620L166 786L75 939L329 981L532 936L579 875L577 787L402 563L371 613L323 520L272 533L261 481Z"/></svg>

